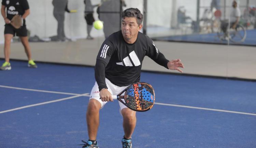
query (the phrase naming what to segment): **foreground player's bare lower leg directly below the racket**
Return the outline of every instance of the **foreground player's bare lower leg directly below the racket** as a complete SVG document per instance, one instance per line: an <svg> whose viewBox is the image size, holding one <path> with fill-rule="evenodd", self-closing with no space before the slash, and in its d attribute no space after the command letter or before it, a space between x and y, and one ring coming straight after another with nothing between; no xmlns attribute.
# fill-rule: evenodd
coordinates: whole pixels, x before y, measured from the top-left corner
<svg viewBox="0 0 256 148"><path fill-rule="evenodd" d="M131 135L136 127L136 111L129 108L124 108L121 111L123 115L123 128L125 132L125 138L131 138Z"/></svg>

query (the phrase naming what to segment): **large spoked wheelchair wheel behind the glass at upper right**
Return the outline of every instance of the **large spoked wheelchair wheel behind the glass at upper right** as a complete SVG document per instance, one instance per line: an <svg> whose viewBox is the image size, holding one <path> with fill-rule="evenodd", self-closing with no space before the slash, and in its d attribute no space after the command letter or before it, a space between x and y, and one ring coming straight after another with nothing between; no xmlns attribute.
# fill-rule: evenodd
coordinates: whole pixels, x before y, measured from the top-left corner
<svg viewBox="0 0 256 148"><path fill-rule="evenodd" d="M244 42L246 38L246 30L240 24L235 29L230 28L229 30L230 40L234 43Z"/></svg>

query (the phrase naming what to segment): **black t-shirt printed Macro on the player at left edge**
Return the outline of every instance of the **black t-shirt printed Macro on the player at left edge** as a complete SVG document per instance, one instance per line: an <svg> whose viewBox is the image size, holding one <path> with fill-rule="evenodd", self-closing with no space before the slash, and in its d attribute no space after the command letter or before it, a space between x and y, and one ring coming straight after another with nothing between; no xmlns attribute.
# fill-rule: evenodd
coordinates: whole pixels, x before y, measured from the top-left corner
<svg viewBox="0 0 256 148"><path fill-rule="evenodd" d="M15 15L23 15L29 9L27 0L2 0L2 5L6 6L6 15L12 19ZM25 20L23 24L25 23Z"/></svg>

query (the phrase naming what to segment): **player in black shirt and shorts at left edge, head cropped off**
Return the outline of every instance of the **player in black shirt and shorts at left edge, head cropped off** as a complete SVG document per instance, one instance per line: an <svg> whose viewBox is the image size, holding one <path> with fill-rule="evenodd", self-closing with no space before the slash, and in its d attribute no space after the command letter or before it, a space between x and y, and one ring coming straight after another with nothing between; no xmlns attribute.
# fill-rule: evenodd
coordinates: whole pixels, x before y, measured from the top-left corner
<svg viewBox="0 0 256 148"><path fill-rule="evenodd" d="M5 12L5 8L6 12ZM25 18L29 15L29 5L27 0L2 0L1 14L5 21L4 28L4 56L5 62L1 66L1 70L11 70L10 50L11 39L15 34L19 36L28 57L28 67L37 68L37 65L31 59L31 50L28 42L28 31L26 28ZM10 23L15 15L22 15L23 25L19 29L15 29Z"/></svg>

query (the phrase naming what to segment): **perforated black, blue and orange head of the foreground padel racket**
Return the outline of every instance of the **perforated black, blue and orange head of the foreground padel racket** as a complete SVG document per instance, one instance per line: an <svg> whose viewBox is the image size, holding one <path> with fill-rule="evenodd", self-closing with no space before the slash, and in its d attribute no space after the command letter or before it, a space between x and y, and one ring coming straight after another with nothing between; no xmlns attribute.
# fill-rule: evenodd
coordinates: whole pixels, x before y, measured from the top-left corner
<svg viewBox="0 0 256 148"><path fill-rule="evenodd" d="M155 92L148 83L135 83L127 88L124 99L132 110L147 111L154 105Z"/></svg>

